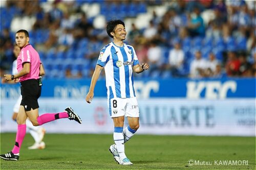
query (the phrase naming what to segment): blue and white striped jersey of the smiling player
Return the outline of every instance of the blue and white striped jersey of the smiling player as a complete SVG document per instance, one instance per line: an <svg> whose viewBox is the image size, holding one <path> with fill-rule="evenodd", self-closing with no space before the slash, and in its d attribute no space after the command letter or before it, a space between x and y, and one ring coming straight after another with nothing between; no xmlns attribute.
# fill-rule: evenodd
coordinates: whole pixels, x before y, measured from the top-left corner
<svg viewBox="0 0 256 170"><path fill-rule="evenodd" d="M139 64L131 45L117 46L114 42L100 51L98 65L105 68L106 90L109 99L133 98L133 66Z"/></svg>

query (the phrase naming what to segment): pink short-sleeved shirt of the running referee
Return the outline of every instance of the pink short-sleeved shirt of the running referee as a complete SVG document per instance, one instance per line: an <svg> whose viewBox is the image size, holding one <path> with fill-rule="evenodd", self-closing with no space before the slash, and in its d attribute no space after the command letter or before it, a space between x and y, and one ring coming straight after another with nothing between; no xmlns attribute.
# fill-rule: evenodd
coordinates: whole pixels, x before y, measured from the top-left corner
<svg viewBox="0 0 256 170"><path fill-rule="evenodd" d="M29 74L20 77L19 81L25 81L29 79L39 79L40 72L40 58L37 51L33 48L32 45L28 44L22 48L17 58L17 70L18 72L22 70L23 64L29 62L30 72Z"/></svg>

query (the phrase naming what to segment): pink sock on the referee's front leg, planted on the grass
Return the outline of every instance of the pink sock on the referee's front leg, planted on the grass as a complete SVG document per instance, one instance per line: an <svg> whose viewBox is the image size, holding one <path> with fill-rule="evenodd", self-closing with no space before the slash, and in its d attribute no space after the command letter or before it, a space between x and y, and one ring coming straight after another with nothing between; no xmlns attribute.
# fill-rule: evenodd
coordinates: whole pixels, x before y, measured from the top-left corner
<svg viewBox="0 0 256 170"><path fill-rule="evenodd" d="M23 139L26 135L26 124L24 125L18 125L18 130L17 130L17 133L16 133L16 142L15 142L15 145L12 149L12 153L14 154L18 154L19 153L19 150L20 150L20 147L22 147L22 142L23 142Z"/></svg>

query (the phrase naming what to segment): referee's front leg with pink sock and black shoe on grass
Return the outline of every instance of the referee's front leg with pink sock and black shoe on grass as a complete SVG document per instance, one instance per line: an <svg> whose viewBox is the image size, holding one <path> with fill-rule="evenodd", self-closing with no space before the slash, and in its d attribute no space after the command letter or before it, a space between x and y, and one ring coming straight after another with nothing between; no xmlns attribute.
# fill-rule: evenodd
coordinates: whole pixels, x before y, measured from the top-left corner
<svg viewBox="0 0 256 170"><path fill-rule="evenodd" d="M26 119L27 119L27 114L25 112L25 109L23 106L20 106L19 112L17 115L18 128L16 133L15 145L11 152L0 155L2 159L16 160L16 161L19 159L19 150L20 150L20 147L22 147L22 142L26 135Z"/></svg>

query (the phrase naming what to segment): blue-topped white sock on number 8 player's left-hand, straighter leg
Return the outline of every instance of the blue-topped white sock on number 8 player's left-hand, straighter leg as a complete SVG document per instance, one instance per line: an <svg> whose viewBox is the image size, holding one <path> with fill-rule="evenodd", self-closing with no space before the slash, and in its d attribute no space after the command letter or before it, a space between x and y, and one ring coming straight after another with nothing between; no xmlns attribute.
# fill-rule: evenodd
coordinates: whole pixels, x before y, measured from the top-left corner
<svg viewBox="0 0 256 170"><path fill-rule="evenodd" d="M115 131L113 134L114 141L116 143L116 148L121 160L126 158L126 155L124 153L124 137L123 137L122 131L123 131L122 127L115 127Z"/></svg>

